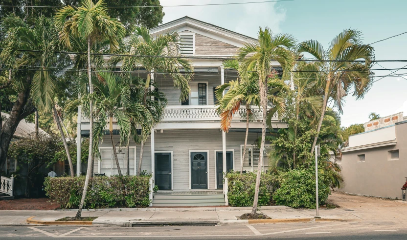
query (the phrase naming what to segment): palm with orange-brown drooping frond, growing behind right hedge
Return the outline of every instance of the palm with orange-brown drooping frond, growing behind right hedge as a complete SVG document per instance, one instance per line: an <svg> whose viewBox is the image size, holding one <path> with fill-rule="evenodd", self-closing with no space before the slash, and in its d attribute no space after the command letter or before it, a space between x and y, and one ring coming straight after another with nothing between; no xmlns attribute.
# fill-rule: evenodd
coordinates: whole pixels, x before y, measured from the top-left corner
<svg viewBox="0 0 407 240"><path fill-rule="evenodd" d="M226 69L239 70L239 62L237 60L226 60L223 63ZM249 71L247 81L235 80L229 81L217 87L215 95L219 99L217 112L221 116L221 129L228 132L231 126L233 115L239 111L240 105L246 106L246 135L243 155L246 156L246 147L249 136L249 121L253 117L250 109L250 104L260 107L260 98L258 95L258 77L254 72ZM225 89L229 88L224 96ZM243 160L240 161L240 175L243 173Z"/></svg>

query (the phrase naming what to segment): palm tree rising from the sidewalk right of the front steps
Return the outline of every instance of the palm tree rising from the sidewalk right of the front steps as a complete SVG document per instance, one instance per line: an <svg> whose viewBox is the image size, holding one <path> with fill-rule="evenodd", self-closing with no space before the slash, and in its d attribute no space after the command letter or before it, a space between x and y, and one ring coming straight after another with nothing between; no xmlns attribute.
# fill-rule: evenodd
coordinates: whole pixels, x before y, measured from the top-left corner
<svg viewBox="0 0 407 240"><path fill-rule="evenodd" d="M263 162L264 141L266 137L267 105L274 105L269 111L276 111L281 116L285 110L284 98L280 96L281 89L285 86L283 79L290 79L290 71L294 66L294 56L291 49L294 48L295 39L291 35L272 34L269 28L259 30L258 42L245 44L238 53L238 61L241 62L242 79L249 79L249 69L256 71L259 82L260 105L263 108L263 127L260 143L260 158L256 177L253 208L251 214L257 211L259 197L261 165ZM283 68L282 79L272 72L272 60L279 62ZM280 94L277 94L280 93ZM269 113L270 115L270 113Z"/></svg>

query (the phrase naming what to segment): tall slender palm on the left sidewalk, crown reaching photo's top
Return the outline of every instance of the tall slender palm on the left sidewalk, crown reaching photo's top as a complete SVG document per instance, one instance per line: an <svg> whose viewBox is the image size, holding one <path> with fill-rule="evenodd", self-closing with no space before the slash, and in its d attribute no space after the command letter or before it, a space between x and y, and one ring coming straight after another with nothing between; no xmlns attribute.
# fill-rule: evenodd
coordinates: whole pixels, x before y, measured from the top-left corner
<svg viewBox="0 0 407 240"><path fill-rule="evenodd" d="M82 6L73 8L66 6L59 9L55 15L55 20L60 29L60 40L69 48L71 46L70 37L85 38L88 42L88 80L89 93L93 94L93 86L91 80L91 61L90 49L92 43L108 39L110 49L117 48L119 41L125 36L126 30L117 19L113 19L107 14L106 4L103 0L99 0L96 4L92 0L84 0ZM89 133L89 160L88 170L93 167L93 107L92 100L90 105L90 133ZM90 178L90 171L86 174L84 190L82 194L81 204L79 205L76 218L80 218L82 207L85 201L86 191Z"/></svg>

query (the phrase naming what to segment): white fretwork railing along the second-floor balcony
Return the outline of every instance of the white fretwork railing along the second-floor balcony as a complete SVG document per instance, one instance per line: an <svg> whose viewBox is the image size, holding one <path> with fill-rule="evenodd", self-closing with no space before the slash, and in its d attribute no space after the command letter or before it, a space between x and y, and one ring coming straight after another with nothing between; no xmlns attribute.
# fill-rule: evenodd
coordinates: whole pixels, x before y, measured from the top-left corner
<svg viewBox="0 0 407 240"><path fill-rule="evenodd" d="M202 106L167 106L164 110L162 121L219 121L220 117L216 112L215 105ZM256 106L251 107L254 119L261 120L263 115L262 109ZM233 120L244 120L246 116L246 107L242 106L233 116ZM84 115L81 116L82 122L89 122ZM274 114L272 120L278 120L277 114ZM115 120L113 119L115 122Z"/></svg>

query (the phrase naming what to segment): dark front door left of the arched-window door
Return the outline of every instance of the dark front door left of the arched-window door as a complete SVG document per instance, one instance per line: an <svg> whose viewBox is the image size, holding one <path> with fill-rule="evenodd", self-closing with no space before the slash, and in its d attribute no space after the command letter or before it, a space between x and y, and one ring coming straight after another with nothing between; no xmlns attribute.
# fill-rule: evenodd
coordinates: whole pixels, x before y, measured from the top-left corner
<svg viewBox="0 0 407 240"><path fill-rule="evenodd" d="M171 190L171 153L155 153L155 184L158 190Z"/></svg>

